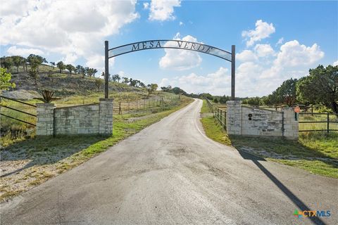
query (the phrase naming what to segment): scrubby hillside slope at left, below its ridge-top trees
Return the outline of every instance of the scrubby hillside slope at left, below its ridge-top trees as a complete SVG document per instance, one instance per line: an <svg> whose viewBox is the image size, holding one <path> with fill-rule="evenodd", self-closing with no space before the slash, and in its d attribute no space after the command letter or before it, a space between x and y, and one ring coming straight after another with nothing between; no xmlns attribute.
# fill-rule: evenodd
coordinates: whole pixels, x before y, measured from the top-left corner
<svg viewBox="0 0 338 225"><path fill-rule="evenodd" d="M15 69L12 69L12 72L15 71ZM29 100L39 96L38 91L42 89L53 90L56 96L87 95L95 92L103 94L104 92L103 79L101 79L101 85L97 86L96 80L99 78L83 77L74 73L70 75L69 72L61 74L56 68L52 69L45 65L42 65L40 71L37 82L28 72L19 70L18 73L13 73L11 82L15 83L15 89L4 91L3 95L10 98ZM119 92L144 91L141 88L118 82L109 82L109 90Z"/></svg>

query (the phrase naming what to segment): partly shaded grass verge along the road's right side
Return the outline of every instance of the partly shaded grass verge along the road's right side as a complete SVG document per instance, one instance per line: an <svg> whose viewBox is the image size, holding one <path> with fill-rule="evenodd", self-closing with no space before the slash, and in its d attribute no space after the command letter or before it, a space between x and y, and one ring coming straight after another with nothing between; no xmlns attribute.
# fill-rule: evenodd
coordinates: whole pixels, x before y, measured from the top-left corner
<svg viewBox="0 0 338 225"><path fill-rule="evenodd" d="M201 112L207 109L204 104ZM215 118L204 117L201 122L206 135L214 141L313 174L338 178L338 132L303 132L299 141L288 141L282 138L228 136Z"/></svg>

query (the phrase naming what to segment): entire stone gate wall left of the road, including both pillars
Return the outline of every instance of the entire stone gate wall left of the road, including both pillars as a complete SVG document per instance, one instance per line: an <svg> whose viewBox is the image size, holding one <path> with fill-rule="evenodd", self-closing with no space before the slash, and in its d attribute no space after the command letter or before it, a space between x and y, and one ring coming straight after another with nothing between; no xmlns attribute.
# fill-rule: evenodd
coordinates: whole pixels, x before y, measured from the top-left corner
<svg viewBox="0 0 338 225"><path fill-rule="evenodd" d="M63 108L37 103L37 135L57 134L113 134L113 99Z"/></svg>

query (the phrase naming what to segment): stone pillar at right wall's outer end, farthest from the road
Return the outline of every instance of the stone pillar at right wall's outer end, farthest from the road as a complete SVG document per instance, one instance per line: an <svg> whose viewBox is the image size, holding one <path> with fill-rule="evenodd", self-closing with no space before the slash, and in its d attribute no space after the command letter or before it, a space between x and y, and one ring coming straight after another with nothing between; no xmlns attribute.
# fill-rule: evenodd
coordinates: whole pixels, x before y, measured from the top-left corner
<svg viewBox="0 0 338 225"><path fill-rule="evenodd" d="M293 108L284 108L284 132L283 136L290 140L298 140L299 123ZM297 115L298 116L298 115Z"/></svg>

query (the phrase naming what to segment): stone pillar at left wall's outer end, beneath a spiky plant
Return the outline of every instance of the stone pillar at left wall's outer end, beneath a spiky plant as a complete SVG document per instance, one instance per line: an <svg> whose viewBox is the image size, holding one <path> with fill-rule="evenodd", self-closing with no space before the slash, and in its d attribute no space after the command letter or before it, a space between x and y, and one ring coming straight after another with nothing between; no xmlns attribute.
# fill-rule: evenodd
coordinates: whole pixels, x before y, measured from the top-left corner
<svg viewBox="0 0 338 225"><path fill-rule="evenodd" d="M37 136L54 135L54 104L37 103Z"/></svg>

